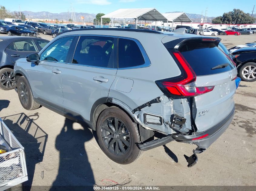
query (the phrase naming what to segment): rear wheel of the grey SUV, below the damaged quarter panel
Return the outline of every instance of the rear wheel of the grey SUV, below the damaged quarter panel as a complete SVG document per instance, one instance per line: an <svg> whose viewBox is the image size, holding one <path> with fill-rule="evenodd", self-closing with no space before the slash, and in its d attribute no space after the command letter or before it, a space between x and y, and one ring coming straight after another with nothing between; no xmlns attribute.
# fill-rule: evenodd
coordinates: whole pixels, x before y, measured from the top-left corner
<svg viewBox="0 0 256 191"><path fill-rule="evenodd" d="M143 153L136 145L141 142L137 123L118 107L109 107L99 115L96 131L101 150L116 163L130 164Z"/></svg>

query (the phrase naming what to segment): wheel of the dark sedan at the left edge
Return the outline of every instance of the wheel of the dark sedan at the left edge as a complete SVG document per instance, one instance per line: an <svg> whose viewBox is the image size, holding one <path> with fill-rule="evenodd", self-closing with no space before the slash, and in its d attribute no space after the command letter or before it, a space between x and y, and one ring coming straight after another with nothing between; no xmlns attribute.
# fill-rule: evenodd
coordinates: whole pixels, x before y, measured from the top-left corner
<svg viewBox="0 0 256 191"><path fill-rule="evenodd" d="M0 89L12 90L16 87L15 75L12 68L2 68L0 70Z"/></svg>

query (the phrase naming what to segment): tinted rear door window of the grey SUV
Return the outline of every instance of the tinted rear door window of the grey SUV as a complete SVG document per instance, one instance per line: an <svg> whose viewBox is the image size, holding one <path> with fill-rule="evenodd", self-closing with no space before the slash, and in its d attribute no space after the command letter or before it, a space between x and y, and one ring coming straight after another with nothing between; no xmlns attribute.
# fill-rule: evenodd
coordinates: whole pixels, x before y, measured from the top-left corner
<svg viewBox="0 0 256 191"><path fill-rule="evenodd" d="M88 37L79 38L73 64L113 68L114 38Z"/></svg>

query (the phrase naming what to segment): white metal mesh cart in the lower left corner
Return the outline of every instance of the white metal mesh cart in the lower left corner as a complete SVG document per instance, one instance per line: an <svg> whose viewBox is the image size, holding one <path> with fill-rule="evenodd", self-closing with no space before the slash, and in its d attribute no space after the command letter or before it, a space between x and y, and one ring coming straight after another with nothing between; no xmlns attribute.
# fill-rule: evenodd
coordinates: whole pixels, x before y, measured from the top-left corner
<svg viewBox="0 0 256 191"><path fill-rule="evenodd" d="M0 135L11 151L0 154L0 191L28 180L24 147L0 118Z"/></svg>

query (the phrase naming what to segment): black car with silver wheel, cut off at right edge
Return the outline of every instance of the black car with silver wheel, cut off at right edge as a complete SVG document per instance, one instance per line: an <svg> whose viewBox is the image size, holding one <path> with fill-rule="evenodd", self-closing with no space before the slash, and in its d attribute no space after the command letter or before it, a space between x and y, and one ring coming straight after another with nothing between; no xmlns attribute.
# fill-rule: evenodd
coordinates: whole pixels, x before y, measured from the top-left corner
<svg viewBox="0 0 256 191"><path fill-rule="evenodd" d="M231 53L243 81L256 81L256 47L244 47Z"/></svg>

